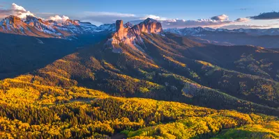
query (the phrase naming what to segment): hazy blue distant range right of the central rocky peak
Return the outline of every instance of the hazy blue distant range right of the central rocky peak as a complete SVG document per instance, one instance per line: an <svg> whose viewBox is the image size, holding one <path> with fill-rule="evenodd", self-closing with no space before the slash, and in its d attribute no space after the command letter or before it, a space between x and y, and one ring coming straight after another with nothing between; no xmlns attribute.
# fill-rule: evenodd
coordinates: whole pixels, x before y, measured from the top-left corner
<svg viewBox="0 0 279 139"><path fill-rule="evenodd" d="M166 32L188 36L191 40L220 45L254 45L268 48L279 47L279 28L167 28Z"/></svg>

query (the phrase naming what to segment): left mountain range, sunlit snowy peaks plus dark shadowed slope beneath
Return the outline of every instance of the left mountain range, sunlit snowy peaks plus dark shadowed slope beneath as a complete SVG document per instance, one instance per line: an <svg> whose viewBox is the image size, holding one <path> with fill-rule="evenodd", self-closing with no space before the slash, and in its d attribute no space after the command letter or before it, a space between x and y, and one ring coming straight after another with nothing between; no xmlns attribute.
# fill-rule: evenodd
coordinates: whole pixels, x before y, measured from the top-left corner
<svg viewBox="0 0 279 139"><path fill-rule="evenodd" d="M71 19L54 22L30 15L25 21L6 17L0 22L0 79L45 67L114 31L115 24L95 26Z"/></svg>

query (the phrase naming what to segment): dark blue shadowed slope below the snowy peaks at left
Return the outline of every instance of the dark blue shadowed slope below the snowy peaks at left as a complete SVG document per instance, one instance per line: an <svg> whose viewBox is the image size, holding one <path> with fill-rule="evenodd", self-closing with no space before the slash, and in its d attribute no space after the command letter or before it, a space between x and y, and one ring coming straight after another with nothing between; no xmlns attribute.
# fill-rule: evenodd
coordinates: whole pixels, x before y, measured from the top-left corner
<svg viewBox="0 0 279 139"><path fill-rule="evenodd" d="M105 39L107 34L80 35L77 39L64 40L0 33L0 79L45 67L80 47Z"/></svg>

